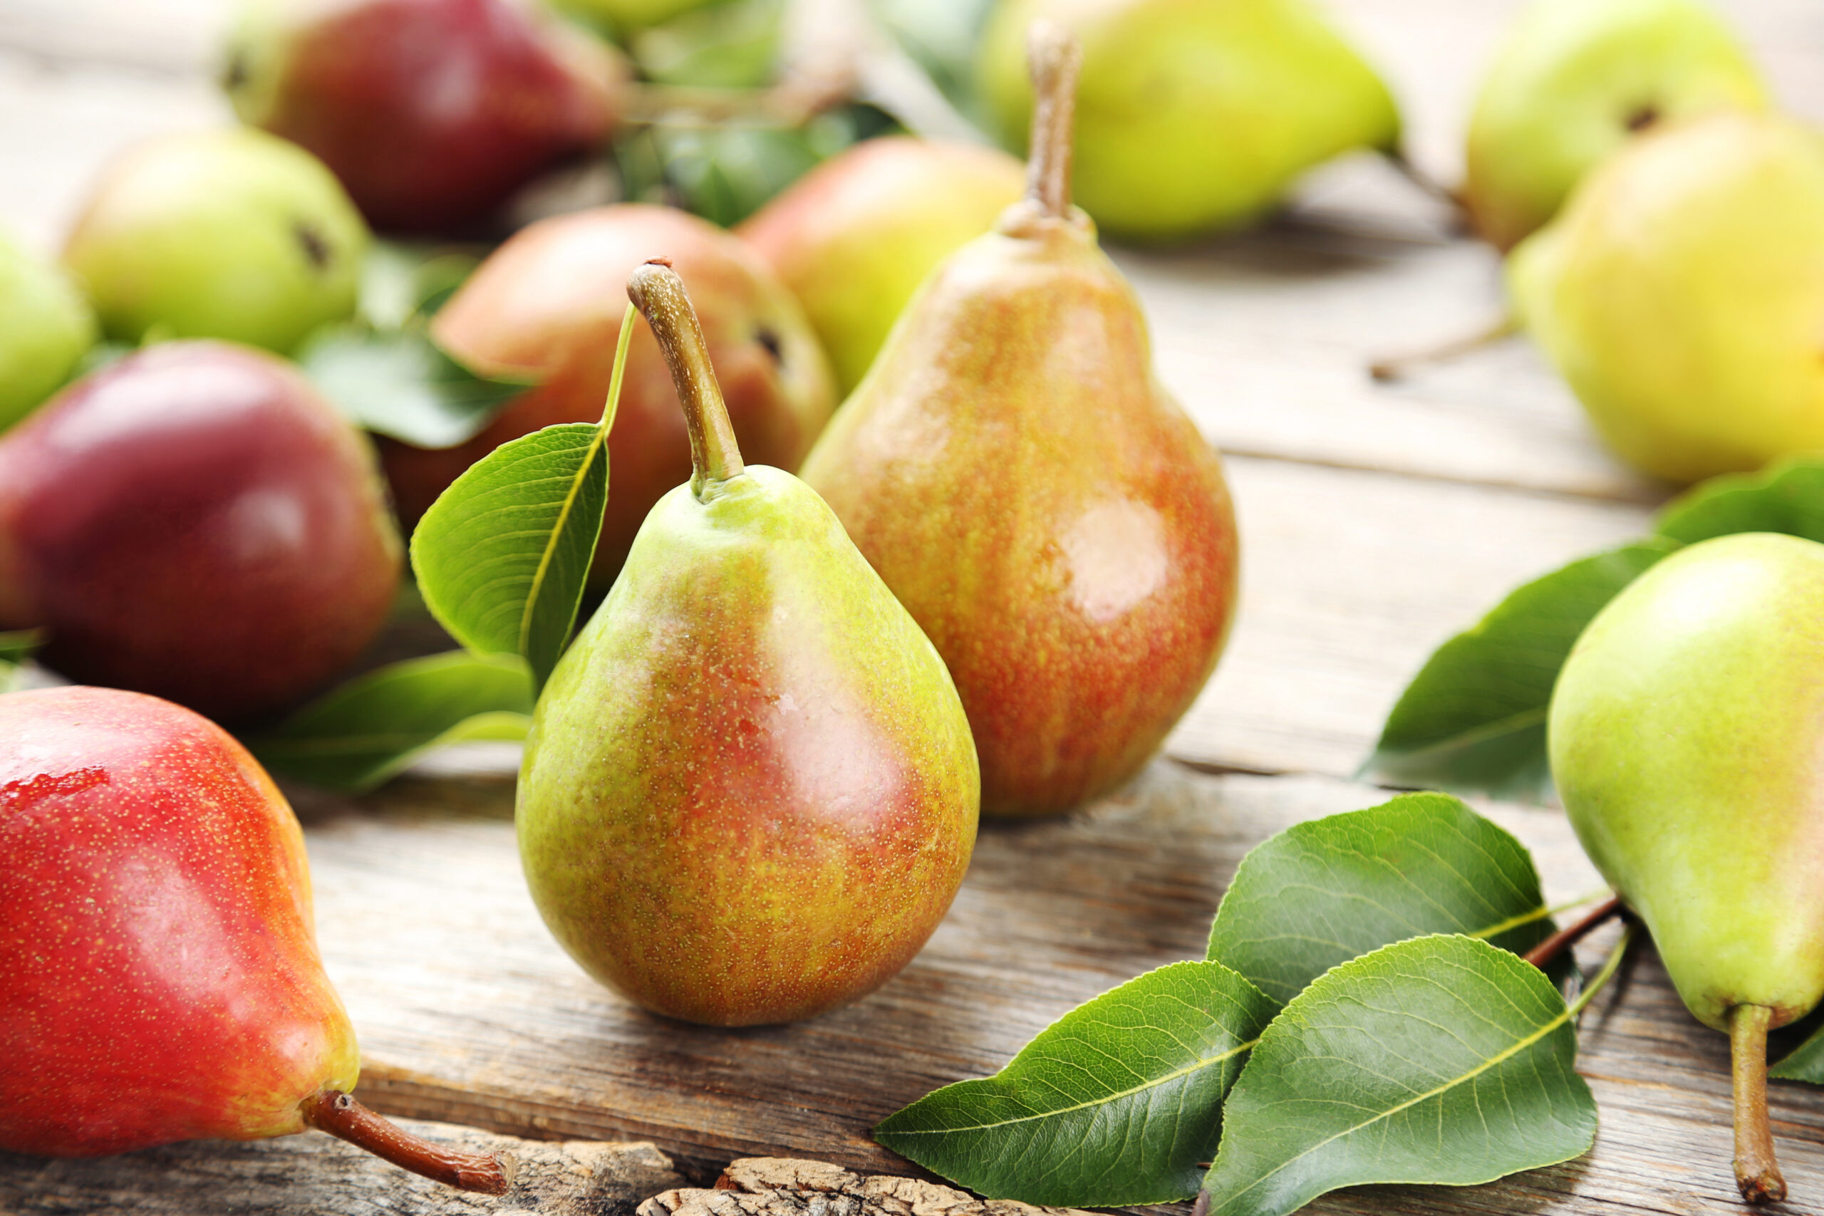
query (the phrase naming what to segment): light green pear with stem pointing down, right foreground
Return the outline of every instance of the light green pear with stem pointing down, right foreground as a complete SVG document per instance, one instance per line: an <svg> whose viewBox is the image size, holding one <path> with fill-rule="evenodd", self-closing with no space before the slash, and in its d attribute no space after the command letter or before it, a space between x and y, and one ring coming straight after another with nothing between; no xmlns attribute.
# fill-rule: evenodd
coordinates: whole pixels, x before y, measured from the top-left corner
<svg viewBox="0 0 1824 1216"><path fill-rule="evenodd" d="M1784 1196L1766 1039L1824 995L1824 545L1746 532L1660 562L1578 638L1547 738L1585 851L1729 1032L1742 1194Z"/></svg>

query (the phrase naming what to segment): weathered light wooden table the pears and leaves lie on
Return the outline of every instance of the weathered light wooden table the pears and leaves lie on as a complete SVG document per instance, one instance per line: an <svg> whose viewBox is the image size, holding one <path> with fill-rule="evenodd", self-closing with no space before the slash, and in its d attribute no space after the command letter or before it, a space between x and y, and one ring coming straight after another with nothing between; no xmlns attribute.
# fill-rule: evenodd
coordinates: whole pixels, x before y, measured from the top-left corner
<svg viewBox="0 0 1824 1216"><path fill-rule="evenodd" d="M1518 2L1333 7L1401 93L1419 164L1452 180L1466 98ZM1824 7L1720 7L1786 104L1824 120ZM113 151L221 122L208 82L221 9L0 0L0 224L55 248ZM1233 642L1166 757L1069 819L985 826L948 921L877 995L739 1032L648 1017L558 950L520 881L498 762L432 766L354 802L301 797L365 1099L527 1138L648 1139L695 1178L751 1154L916 1172L868 1139L876 1119L996 1070L1089 995L1198 957L1248 848L1386 797L1350 777L1432 647L1518 582L1640 532L1667 494L1603 454L1521 341L1399 386L1368 381L1370 357L1501 312L1494 253L1372 159L1315 173L1260 232L1116 257L1151 314L1162 376L1226 452L1244 534ZM1485 809L1536 850L1550 897L1596 886L1560 813ZM1339 1192L1311 1211L1735 1205L1726 1043L1685 1015L1651 955L1598 1001L1581 1045L1601 1107L1589 1156L1470 1190ZM1824 1090L1777 1085L1773 1119L1789 1211L1824 1209ZM33 1198L22 1169L0 1163L0 1209L9 1185L22 1207ZM133 1169L106 1176L109 1203ZM301 1165L297 1185L312 1178ZM69 1200L80 1185L60 1194L71 1205L57 1211L113 1211ZM399 1203L387 1211L469 1211L420 1190Z"/></svg>

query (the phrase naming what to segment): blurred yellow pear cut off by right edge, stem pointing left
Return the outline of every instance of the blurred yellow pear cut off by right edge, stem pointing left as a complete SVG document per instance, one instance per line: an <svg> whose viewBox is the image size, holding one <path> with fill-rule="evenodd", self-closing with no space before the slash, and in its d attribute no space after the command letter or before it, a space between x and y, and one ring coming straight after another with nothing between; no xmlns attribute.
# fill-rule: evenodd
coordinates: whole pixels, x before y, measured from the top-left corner
<svg viewBox="0 0 1824 1216"><path fill-rule="evenodd" d="M1669 481L1824 448L1824 135L1716 113L1598 168L1508 259L1525 326Z"/></svg>

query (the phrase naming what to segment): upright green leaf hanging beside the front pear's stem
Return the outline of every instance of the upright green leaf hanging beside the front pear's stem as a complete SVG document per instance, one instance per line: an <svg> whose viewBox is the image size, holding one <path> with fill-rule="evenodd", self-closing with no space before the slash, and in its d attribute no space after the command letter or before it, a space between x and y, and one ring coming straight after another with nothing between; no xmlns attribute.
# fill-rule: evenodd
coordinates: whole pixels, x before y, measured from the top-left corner
<svg viewBox="0 0 1824 1216"><path fill-rule="evenodd" d="M600 423L560 423L471 465L412 532L425 607L480 654L518 654L534 695L569 644L607 509L607 432L637 310L627 304Z"/></svg>

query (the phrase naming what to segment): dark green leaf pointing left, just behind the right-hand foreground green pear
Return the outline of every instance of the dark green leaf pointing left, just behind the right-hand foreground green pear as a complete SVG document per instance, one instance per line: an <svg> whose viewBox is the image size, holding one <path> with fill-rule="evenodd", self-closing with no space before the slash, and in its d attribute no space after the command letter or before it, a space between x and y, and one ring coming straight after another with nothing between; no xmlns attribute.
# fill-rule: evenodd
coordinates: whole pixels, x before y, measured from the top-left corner
<svg viewBox="0 0 1824 1216"><path fill-rule="evenodd" d="M1545 711L1591 618L1678 541L1647 538L1519 587L1437 647L1381 729L1363 775L1496 799L1550 791Z"/></svg>

